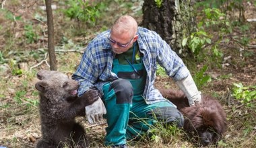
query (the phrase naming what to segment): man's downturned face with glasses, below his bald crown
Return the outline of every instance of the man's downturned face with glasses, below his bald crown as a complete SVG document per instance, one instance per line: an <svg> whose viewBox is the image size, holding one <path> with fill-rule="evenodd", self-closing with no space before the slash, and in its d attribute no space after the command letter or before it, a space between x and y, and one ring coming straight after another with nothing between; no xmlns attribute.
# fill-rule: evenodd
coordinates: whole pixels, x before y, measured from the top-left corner
<svg viewBox="0 0 256 148"><path fill-rule="evenodd" d="M119 34L119 32L112 31L108 37L113 52L121 54L131 48L133 42L137 40L137 35L131 36L129 32Z"/></svg>

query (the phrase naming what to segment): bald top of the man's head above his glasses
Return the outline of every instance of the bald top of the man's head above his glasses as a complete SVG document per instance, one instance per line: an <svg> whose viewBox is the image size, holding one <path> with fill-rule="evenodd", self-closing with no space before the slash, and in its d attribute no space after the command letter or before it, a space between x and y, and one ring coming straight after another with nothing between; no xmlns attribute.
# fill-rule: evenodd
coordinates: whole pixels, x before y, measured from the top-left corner
<svg viewBox="0 0 256 148"><path fill-rule="evenodd" d="M115 21L111 28L111 32L116 32L118 34L125 34L129 32L130 36L134 36L137 32L137 27L137 22L133 17L123 15Z"/></svg>

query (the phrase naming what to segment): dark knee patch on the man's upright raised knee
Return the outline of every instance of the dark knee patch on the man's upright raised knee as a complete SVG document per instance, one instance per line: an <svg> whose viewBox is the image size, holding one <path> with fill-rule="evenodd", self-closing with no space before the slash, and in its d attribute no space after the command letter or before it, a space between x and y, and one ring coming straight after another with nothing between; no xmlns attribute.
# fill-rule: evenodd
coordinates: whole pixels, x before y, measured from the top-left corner
<svg viewBox="0 0 256 148"><path fill-rule="evenodd" d="M125 79L117 79L113 81L109 87L110 89L114 89L115 94L117 96L117 104L131 104L131 100L133 99L133 86L130 81Z"/></svg>

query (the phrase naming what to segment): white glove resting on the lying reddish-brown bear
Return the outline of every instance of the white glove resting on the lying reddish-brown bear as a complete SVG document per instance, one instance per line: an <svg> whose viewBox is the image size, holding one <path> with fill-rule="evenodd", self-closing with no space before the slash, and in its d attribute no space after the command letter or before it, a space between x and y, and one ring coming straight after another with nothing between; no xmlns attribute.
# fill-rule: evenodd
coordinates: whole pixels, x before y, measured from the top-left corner
<svg viewBox="0 0 256 148"><path fill-rule="evenodd" d="M201 102L201 91L198 91L197 86L195 85L195 82L190 74L185 79L177 81L176 83L187 96L189 106L193 106L195 103Z"/></svg>

